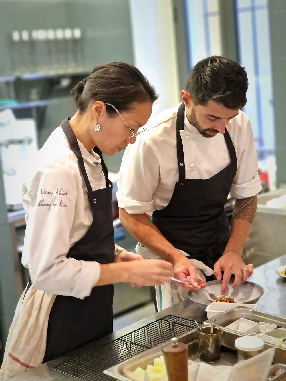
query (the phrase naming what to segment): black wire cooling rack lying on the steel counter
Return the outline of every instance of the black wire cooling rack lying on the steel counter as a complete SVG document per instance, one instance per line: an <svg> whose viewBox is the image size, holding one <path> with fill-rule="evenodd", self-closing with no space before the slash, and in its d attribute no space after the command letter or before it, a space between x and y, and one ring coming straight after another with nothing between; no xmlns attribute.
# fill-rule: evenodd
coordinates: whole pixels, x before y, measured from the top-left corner
<svg viewBox="0 0 286 381"><path fill-rule="evenodd" d="M193 328L196 328L194 320L167 315L57 365L54 369L83 381L111 381L114 378L104 375L103 370L162 344L174 336L183 335Z"/></svg>

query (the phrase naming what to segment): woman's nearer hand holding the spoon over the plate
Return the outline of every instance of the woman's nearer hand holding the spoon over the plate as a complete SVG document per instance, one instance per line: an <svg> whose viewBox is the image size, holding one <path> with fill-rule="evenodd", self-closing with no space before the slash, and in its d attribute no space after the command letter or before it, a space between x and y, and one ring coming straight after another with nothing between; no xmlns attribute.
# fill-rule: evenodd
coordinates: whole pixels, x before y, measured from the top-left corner
<svg viewBox="0 0 286 381"><path fill-rule="evenodd" d="M128 282L137 285L158 286L170 282L173 266L162 259L145 259L130 261L128 266Z"/></svg>

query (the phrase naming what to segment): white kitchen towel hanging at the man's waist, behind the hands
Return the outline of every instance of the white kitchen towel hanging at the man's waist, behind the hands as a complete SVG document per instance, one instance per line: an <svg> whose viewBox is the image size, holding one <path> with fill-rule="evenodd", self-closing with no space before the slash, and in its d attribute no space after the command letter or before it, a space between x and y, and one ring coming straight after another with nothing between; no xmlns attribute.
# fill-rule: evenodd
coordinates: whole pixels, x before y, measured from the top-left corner
<svg viewBox="0 0 286 381"><path fill-rule="evenodd" d="M140 242L136 245L136 252L143 256L143 258L159 258L156 254L154 254L151 250L143 246ZM180 249L177 249L185 256L188 254ZM197 259L190 259L190 261L197 268L198 279L205 280L207 276L214 274L214 271L206 266L202 261L198 261ZM188 277L190 280L190 277ZM169 283L164 283L161 286L156 286L156 300L157 300L157 309L158 311L162 311L167 307L173 306L174 304L179 303L182 300L188 299L189 291L183 287L177 286L174 282L170 281Z"/></svg>

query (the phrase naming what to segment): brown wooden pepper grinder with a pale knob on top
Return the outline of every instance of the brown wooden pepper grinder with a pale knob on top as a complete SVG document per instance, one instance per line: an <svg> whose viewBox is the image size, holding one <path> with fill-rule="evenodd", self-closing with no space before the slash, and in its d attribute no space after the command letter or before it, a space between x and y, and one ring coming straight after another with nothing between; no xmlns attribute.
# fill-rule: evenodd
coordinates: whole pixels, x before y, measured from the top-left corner
<svg viewBox="0 0 286 381"><path fill-rule="evenodd" d="M188 346L176 337L162 348L169 381L188 381Z"/></svg>

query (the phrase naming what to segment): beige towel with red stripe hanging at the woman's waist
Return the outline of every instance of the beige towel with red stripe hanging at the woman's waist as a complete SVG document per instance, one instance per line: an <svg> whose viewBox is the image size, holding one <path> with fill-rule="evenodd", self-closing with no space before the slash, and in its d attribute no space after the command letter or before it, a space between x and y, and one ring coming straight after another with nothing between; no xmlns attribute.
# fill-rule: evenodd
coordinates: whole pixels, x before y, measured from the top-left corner
<svg viewBox="0 0 286 381"><path fill-rule="evenodd" d="M22 293L6 342L0 381L42 364L46 352L48 319L56 295L33 285Z"/></svg>

